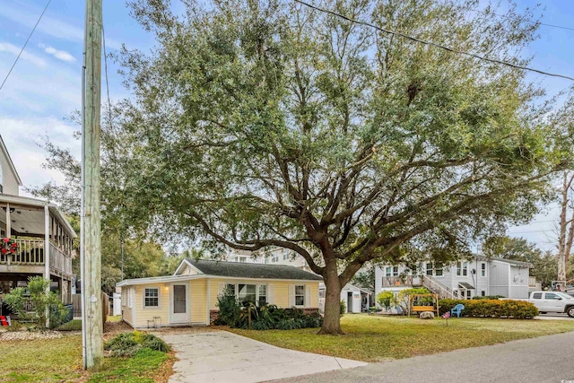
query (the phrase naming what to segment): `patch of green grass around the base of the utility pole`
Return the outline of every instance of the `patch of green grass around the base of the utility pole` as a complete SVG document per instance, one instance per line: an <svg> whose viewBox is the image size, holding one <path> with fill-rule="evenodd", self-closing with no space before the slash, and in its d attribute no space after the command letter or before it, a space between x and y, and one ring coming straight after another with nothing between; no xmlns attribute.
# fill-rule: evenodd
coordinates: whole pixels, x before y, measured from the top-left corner
<svg viewBox="0 0 574 383"><path fill-rule="evenodd" d="M153 382L170 366L170 355L143 349L132 358L105 358L97 374L82 370L82 336L34 341L0 341L0 381L2 382Z"/></svg>

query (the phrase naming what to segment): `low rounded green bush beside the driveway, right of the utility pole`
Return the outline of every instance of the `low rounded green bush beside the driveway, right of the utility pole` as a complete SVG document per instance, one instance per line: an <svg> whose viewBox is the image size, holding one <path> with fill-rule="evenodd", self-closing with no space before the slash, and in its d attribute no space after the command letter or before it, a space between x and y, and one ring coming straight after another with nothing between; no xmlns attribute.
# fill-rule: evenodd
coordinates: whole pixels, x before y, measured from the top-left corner
<svg viewBox="0 0 574 383"><path fill-rule="evenodd" d="M130 357L143 349L168 353L170 346L155 335L137 330L116 335L104 344L104 350L118 357Z"/></svg>

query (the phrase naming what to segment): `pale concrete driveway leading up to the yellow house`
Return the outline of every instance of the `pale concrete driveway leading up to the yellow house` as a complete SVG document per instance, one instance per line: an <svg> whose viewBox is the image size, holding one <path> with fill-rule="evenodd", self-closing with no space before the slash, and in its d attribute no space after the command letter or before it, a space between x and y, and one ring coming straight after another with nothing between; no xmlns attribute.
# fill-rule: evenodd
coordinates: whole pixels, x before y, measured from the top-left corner
<svg viewBox="0 0 574 383"><path fill-rule="evenodd" d="M226 331L161 333L176 350L170 382L251 383L364 366L362 361L301 353Z"/></svg>

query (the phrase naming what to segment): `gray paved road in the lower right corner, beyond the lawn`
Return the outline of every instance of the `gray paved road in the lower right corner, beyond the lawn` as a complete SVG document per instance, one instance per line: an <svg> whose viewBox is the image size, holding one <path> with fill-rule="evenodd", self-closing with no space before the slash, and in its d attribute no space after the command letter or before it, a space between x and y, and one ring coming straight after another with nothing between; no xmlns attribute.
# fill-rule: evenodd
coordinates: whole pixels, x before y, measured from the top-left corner
<svg viewBox="0 0 574 383"><path fill-rule="evenodd" d="M574 381L574 332L371 363L281 382L541 383Z"/></svg>

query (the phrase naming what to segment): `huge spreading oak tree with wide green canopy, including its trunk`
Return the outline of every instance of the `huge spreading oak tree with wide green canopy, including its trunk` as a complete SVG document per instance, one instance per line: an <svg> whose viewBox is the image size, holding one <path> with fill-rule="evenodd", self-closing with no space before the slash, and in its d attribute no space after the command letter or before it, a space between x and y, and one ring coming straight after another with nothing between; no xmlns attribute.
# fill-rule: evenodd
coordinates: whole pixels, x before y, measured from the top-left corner
<svg viewBox="0 0 574 383"><path fill-rule="evenodd" d="M366 262L453 259L531 217L570 161L523 71L291 1L182 3L130 4L156 45L117 56L126 205L164 233L304 257L326 283L323 334ZM512 4L504 19L478 1L317 4L515 65L538 27Z"/></svg>

